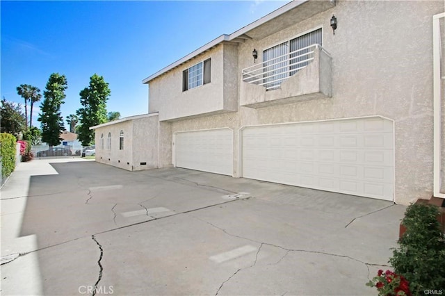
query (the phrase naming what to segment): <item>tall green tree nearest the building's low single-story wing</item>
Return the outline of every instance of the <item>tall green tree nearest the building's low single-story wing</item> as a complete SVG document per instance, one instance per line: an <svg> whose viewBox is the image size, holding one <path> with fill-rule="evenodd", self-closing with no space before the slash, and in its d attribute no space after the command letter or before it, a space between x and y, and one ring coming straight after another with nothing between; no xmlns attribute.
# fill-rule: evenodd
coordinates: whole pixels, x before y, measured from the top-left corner
<svg viewBox="0 0 445 296"><path fill-rule="evenodd" d="M104 77L94 74L90 77L90 85L80 92L82 108L76 111L79 116L78 138L83 146L91 145L95 140L94 131L90 126L107 122L106 101L111 94Z"/></svg>

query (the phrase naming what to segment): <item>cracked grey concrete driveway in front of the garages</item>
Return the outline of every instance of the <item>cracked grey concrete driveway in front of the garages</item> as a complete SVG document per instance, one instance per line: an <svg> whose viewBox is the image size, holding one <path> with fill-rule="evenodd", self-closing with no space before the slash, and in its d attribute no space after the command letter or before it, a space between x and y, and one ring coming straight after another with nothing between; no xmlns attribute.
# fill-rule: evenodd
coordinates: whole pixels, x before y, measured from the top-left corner
<svg viewBox="0 0 445 296"><path fill-rule="evenodd" d="M2 295L375 295L405 206L193 170L21 163Z"/></svg>

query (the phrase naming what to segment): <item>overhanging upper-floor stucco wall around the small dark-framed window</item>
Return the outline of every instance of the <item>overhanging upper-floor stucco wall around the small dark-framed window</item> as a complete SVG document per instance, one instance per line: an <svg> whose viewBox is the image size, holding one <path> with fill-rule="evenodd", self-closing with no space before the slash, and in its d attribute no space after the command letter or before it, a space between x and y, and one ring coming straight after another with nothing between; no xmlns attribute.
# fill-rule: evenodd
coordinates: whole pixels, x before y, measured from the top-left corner
<svg viewBox="0 0 445 296"><path fill-rule="evenodd" d="M211 58L211 82L183 92L182 72L207 58ZM230 67L223 67L223 62ZM159 120L165 121L236 110L236 63L236 47L218 44L175 70L150 81L149 112L159 112Z"/></svg>

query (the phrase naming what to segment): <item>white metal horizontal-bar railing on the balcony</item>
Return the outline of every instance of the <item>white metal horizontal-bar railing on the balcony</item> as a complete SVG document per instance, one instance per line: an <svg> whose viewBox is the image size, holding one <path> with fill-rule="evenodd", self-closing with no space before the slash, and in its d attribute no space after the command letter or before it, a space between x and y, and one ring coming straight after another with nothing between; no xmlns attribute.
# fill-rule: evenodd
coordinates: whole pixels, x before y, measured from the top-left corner
<svg viewBox="0 0 445 296"><path fill-rule="evenodd" d="M247 67L243 69L243 81L263 85L266 90L280 88L280 84L284 80L296 74L300 69L307 67L314 60L316 49L325 51L320 44L312 44L309 47ZM327 51L325 52L328 54Z"/></svg>

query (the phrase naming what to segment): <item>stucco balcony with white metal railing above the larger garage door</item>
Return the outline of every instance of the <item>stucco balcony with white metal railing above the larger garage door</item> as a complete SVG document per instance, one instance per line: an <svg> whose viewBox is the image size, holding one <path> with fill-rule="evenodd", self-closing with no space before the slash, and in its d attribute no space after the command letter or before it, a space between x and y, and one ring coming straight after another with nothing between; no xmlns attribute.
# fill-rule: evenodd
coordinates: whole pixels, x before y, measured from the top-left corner
<svg viewBox="0 0 445 296"><path fill-rule="evenodd" d="M331 97L331 56L319 44L243 69L240 105L262 108Z"/></svg>

